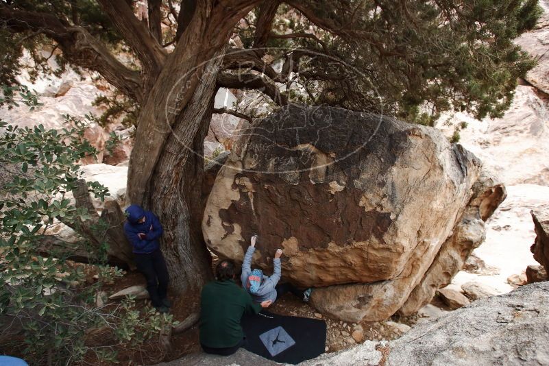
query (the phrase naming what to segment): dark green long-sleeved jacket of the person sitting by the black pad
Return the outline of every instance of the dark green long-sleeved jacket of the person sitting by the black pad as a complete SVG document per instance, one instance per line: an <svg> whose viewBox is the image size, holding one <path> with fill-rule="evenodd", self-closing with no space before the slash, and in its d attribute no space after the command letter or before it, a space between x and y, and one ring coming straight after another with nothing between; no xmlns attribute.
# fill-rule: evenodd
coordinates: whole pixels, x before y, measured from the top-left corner
<svg viewBox="0 0 549 366"><path fill-rule="evenodd" d="M261 305L232 280L209 282L200 301L200 343L212 348L234 347L244 337L242 315L261 311Z"/></svg>

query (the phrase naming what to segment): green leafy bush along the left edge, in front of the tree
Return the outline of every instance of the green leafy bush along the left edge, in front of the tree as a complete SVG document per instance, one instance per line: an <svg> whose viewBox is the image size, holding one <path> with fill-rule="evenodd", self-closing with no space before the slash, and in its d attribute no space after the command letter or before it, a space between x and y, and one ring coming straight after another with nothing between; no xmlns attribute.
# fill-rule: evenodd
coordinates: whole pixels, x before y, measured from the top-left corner
<svg viewBox="0 0 549 366"><path fill-rule="evenodd" d="M0 106L38 106L36 95L26 88L3 89ZM65 119L60 131L0 120L2 352L19 354L32 365L68 365L84 358L114 362L120 347L131 350L172 322L170 315L151 308L138 310L132 299L98 301L101 287L123 271L106 265L106 243L92 245L80 230L90 215L75 206L71 191L82 175L78 162L97 151L83 138L86 121ZM95 197L108 195L97 182L87 186ZM64 225L75 230L77 241L52 235ZM93 230L106 227L100 222ZM69 260L76 251L89 254L93 265ZM90 343L94 332L107 335Z"/></svg>

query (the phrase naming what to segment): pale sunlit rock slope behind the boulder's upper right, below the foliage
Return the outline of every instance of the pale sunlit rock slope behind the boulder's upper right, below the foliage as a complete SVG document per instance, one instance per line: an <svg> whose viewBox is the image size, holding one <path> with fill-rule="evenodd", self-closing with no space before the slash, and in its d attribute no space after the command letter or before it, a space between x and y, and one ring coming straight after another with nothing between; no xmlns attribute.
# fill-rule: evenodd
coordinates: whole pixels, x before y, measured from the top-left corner
<svg viewBox="0 0 549 366"><path fill-rule="evenodd" d="M549 55L549 53L548 53ZM548 78L549 80L549 78ZM547 101L531 86L519 85L511 108L500 119L483 119L456 112L437 122L446 136L467 123L459 143L498 171L505 186L549 185L549 123Z"/></svg>

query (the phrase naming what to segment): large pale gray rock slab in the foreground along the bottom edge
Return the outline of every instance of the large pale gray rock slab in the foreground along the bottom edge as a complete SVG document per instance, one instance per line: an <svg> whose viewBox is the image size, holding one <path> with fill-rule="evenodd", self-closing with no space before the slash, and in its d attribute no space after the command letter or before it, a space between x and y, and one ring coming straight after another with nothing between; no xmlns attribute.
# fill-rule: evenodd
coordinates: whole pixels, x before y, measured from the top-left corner
<svg viewBox="0 0 549 366"><path fill-rule="evenodd" d="M394 341L365 341L302 366L549 365L549 282L478 300L419 324ZM221 358L192 354L162 366L271 365L245 350Z"/></svg>

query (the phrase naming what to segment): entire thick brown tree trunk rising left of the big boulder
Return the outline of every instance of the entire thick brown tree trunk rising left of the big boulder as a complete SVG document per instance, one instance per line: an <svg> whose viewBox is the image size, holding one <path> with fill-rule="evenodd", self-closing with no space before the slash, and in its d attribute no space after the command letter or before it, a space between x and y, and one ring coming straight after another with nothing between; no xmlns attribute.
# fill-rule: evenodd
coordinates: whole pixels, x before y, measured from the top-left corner
<svg viewBox="0 0 549 366"><path fill-rule="evenodd" d="M258 0L195 3L193 16L148 93L128 170L127 199L158 215L171 289L199 291L212 277L202 236L202 156L217 74L234 24Z"/></svg>

